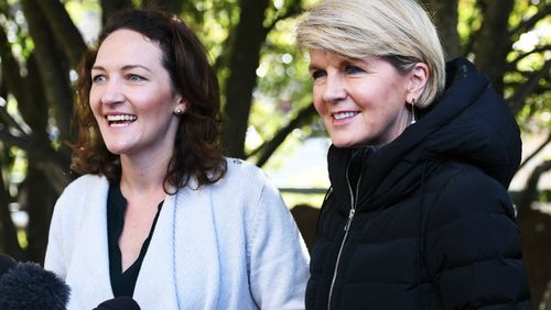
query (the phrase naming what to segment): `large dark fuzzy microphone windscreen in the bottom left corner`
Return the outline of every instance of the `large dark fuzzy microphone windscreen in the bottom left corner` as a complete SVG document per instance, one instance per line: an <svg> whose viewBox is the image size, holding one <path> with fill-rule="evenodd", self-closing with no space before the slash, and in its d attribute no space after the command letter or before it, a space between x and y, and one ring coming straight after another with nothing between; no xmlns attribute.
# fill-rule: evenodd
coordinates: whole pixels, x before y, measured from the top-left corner
<svg viewBox="0 0 551 310"><path fill-rule="evenodd" d="M65 310L68 286L35 263L19 263L0 278L0 309Z"/></svg>

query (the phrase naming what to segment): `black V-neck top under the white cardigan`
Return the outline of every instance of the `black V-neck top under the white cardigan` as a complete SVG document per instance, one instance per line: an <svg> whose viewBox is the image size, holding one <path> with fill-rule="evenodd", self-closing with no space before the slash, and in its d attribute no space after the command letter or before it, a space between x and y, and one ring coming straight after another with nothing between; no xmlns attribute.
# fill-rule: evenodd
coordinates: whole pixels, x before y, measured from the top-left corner
<svg viewBox="0 0 551 310"><path fill-rule="evenodd" d="M143 257L148 252L149 243L151 241L151 236L153 235L153 231L155 230L156 220L159 219L162 206L163 201L159 203L155 219L153 220L148 237L143 241L140 255L136 262L122 273L119 239L122 233L122 228L125 226L127 200L122 196L118 184L109 185L109 193L107 196L107 239L109 246L109 276L115 297L132 297L136 280L138 279Z"/></svg>

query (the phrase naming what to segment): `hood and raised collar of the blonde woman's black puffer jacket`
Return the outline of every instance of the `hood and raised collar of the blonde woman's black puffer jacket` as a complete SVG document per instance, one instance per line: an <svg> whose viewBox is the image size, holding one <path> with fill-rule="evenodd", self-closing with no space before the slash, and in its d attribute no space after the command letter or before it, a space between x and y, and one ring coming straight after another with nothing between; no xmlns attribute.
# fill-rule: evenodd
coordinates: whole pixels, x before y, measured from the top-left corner
<svg viewBox="0 0 551 310"><path fill-rule="evenodd" d="M467 59L450 62L446 74L442 98L395 141L363 157L359 209L388 206L408 195L426 173L426 160L437 157L473 164L508 186L520 160L520 137L507 104ZM346 167L355 152L332 146L327 155L343 212L350 208Z"/></svg>

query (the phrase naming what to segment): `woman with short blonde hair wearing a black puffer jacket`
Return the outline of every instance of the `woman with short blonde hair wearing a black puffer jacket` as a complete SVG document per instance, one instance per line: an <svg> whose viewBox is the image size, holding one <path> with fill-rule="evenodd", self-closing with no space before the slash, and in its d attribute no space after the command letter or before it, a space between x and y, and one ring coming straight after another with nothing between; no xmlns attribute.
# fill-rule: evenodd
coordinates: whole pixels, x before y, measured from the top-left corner
<svg viewBox="0 0 551 310"><path fill-rule="evenodd" d="M296 36L333 142L306 309L530 309L520 134L488 79L414 0L325 0Z"/></svg>

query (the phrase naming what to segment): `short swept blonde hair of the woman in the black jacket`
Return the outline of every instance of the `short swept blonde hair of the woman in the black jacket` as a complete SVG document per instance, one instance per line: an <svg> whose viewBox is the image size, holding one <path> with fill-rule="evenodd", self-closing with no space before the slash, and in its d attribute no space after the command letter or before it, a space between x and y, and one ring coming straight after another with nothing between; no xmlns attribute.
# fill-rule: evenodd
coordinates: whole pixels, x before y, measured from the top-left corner
<svg viewBox="0 0 551 310"><path fill-rule="evenodd" d="M301 48L345 58L383 57L402 74L415 63L429 79L415 107L430 106L445 87L445 57L426 11L414 0L323 0L296 30Z"/></svg>

